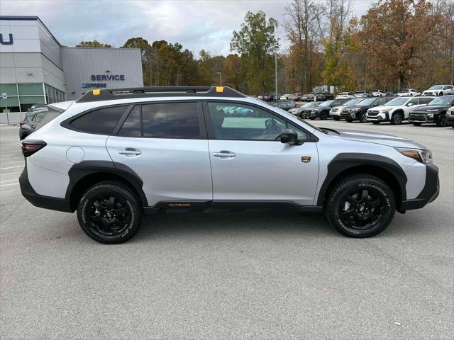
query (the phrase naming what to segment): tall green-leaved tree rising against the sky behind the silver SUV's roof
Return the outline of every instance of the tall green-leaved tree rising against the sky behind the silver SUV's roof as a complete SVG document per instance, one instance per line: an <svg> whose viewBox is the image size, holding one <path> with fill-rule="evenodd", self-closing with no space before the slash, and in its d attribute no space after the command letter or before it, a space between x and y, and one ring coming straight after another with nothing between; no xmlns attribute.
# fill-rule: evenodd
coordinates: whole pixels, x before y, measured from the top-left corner
<svg viewBox="0 0 454 340"><path fill-rule="evenodd" d="M275 38L277 21L274 18L266 19L263 11L246 13L245 22L241 24L241 29L233 31L230 49L248 58L248 77L250 86L260 86L261 94L267 89L267 77L270 77L269 66L271 55L277 52L279 42ZM252 71L252 72L251 72Z"/></svg>

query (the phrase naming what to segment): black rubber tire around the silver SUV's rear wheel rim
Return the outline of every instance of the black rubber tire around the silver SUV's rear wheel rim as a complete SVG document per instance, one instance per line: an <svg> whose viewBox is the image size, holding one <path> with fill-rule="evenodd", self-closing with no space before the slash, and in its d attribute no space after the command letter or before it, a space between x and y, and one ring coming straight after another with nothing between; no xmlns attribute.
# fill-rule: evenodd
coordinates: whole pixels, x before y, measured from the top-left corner
<svg viewBox="0 0 454 340"><path fill-rule="evenodd" d="M131 213L131 221L129 222L128 227L126 227L126 229L120 234L111 237L94 232L88 219L89 210L94 198L100 195L106 196L109 194L122 196ZM138 231L141 222L141 210L138 206L137 200L128 190L125 190L125 188L121 186L106 184L105 186L94 186L84 193L84 196L80 199L77 207L77 219L79 220L79 225L82 230L95 241L105 244L118 244L131 239L131 237L133 237Z"/></svg>

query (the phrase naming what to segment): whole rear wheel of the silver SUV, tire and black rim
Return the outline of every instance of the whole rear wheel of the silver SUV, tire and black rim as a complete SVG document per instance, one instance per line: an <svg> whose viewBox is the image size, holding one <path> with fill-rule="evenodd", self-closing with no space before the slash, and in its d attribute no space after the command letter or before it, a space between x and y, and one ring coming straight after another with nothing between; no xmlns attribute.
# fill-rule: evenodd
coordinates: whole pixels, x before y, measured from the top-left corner
<svg viewBox="0 0 454 340"><path fill-rule="evenodd" d="M142 208L131 188L105 181L84 193L77 206L77 220L85 234L95 241L118 244L138 232Z"/></svg>

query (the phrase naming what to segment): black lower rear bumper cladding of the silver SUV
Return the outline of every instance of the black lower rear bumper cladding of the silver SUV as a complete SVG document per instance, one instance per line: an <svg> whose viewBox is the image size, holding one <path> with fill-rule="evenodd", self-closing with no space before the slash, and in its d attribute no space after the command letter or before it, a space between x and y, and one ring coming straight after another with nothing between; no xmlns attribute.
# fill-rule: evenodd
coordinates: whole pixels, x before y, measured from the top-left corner
<svg viewBox="0 0 454 340"><path fill-rule="evenodd" d="M65 200L65 198L43 196L33 190L30 181L28 181L27 160L26 166L23 168L22 174L19 177L19 185L21 186L22 196L25 197L28 202L35 205L35 207L64 212L74 212L74 210L71 209L69 200Z"/></svg>

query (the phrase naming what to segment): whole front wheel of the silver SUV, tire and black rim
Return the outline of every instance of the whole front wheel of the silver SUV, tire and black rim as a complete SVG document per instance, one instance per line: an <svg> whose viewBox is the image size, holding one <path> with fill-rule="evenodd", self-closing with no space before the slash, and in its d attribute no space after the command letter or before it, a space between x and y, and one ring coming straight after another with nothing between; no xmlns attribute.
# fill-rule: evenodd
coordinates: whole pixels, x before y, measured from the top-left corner
<svg viewBox="0 0 454 340"><path fill-rule="evenodd" d="M327 197L328 221L348 237L380 234L396 212L391 188L381 179L368 174L353 174L341 179Z"/></svg>

